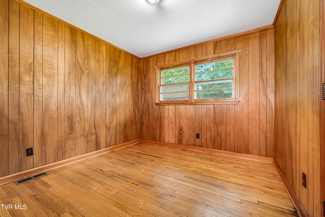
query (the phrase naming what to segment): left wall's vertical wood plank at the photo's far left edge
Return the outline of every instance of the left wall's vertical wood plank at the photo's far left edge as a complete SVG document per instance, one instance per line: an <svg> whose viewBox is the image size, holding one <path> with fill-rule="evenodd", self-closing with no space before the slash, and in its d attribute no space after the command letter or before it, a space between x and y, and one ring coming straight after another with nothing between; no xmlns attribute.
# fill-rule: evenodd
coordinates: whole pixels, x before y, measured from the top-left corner
<svg viewBox="0 0 325 217"><path fill-rule="evenodd" d="M0 141L3 151L0 153L0 176L8 175L8 33L9 2L0 1Z"/></svg>

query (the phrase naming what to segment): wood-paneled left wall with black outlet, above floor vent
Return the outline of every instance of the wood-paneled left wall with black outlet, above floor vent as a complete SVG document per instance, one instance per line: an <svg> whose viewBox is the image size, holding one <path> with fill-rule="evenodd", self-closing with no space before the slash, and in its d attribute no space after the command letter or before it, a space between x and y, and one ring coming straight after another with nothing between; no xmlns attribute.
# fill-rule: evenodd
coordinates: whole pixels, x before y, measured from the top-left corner
<svg viewBox="0 0 325 217"><path fill-rule="evenodd" d="M0 177L139 139L138 57L0 5Z"/></svg>

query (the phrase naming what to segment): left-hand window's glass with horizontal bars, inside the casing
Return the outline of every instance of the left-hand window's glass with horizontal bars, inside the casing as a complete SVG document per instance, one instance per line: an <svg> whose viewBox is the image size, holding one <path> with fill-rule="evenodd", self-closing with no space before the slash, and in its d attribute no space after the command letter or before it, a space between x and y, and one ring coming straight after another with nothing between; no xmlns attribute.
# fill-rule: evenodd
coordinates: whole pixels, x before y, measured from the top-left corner
<svg viewBox="0 0 325 217"><path fill-rule="evenodd" d="M189 100L189 66L159 70L160 101Z"/></svg>

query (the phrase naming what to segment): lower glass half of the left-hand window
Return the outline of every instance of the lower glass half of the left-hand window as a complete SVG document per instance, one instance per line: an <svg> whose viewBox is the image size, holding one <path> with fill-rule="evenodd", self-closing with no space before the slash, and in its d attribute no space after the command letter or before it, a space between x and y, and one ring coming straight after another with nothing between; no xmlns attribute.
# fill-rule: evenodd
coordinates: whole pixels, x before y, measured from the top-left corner
<svg viewBox="0 0 325 217"><path fill-rule="evenodd" d="M188 84L174 84L160 87L160 100L187 100Z"/></svg>

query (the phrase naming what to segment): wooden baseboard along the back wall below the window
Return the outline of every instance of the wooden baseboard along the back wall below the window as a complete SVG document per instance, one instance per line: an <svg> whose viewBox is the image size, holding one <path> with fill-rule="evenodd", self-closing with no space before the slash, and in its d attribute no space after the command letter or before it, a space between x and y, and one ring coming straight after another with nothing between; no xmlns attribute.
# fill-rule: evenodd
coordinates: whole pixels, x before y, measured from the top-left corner
<svg viewBox="0 0 325 217"><path fill-rule="evenodd" d="M168 142L158 142L158 141L145 140L145 139L140 139L140 142L157 144L157 145L168 145L168 146L184 148L184 149L189 149L189 150L205 151L205 152L222 154L225 156L231 156L231 157L236 157L236 158L243 158L243 159L249 159L249 160L254 160L254 161L263 161L263 162L273 163L273 158L255 156L252 154L236 153L236 152L232 152L232 151L217 150L217 149L197 147L197 146L191 146L191 145L180 145L180 144L174 144L174 143L168 143Z"/></svg>

